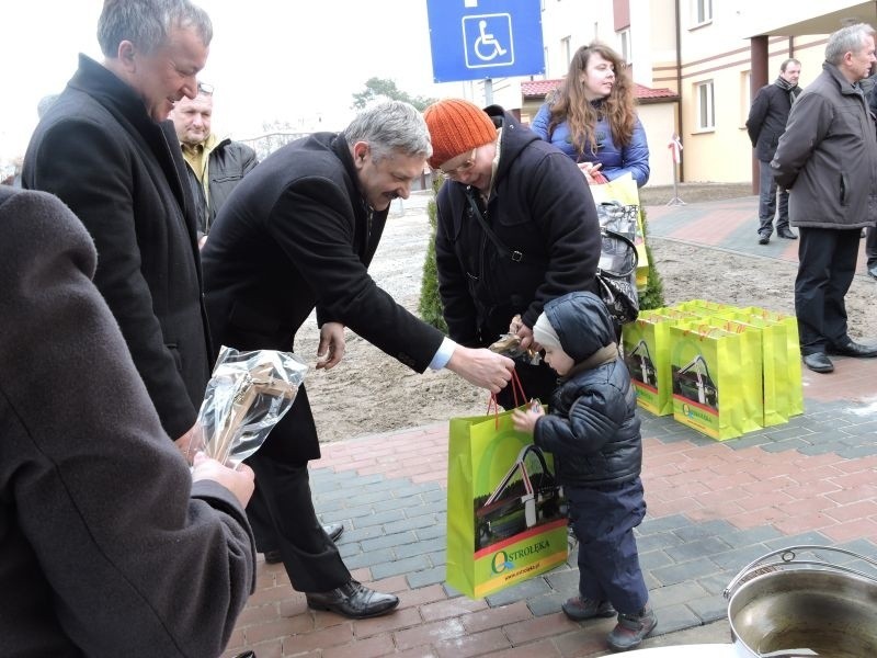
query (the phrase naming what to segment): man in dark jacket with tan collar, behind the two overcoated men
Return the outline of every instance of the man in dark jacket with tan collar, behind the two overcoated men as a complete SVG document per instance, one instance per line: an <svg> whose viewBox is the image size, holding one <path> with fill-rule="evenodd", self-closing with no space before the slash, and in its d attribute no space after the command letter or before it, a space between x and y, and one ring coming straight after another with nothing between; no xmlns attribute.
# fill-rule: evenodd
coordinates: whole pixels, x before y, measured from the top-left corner
<svg viewBox="0 0 877 658"><path fill-rule="evenodd" d="M180 99L170 115L183 149L186 173L195 198L198 241L209 232L216 214L241 179L259 162L246 144L220 139L210 131L213 87L198 84L198 95Z"/></svg>

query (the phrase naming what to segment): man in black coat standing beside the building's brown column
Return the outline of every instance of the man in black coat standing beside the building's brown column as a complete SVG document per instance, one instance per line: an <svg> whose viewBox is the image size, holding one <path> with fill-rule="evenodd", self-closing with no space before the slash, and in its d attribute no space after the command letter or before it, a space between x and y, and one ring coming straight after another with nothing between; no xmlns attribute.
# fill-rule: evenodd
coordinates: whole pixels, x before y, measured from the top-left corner
<svg viewBox="0 0 877 658"><path fill-rule="evenodd" d="M779 136L786 129L788 113L801 88L798 78L801 63L786 59L779 65L779 77L772 84L762 87L752 101L747 120L747 132L755 157L759 159L759 245L771 241L776 214L776 197L779 195L779 215L776 217L776 235L796 240L788 227L788 192L774 181L771 160L774 159Z"/></svg>

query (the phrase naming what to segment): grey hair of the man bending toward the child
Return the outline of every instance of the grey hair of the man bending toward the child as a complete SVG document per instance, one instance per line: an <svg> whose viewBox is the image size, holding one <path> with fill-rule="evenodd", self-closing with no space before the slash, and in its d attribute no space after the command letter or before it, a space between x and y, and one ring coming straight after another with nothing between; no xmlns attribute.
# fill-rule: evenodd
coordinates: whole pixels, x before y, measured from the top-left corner
<svg viewBox="0 0 877 658"><path fill-rule="evenodd" d="M410 103L387 101L364 110L341 133L350 146L367 141L372 158L380 161L394 151L406 156L432 156L426 122Z"/></svg>

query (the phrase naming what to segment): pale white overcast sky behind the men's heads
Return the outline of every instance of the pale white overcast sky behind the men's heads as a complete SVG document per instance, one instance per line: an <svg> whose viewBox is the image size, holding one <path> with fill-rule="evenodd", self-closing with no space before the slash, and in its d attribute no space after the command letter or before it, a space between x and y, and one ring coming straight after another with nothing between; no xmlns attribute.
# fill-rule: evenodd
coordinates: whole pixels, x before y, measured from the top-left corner
<svg viewBox="0 0 877 658"><path fill-rule="evenodd" d="M463 84L434 84L426 0L196 0L214 38L200 78L215 87L214 131L244 139L263 123L308 123L339 131L352 94L372 77L411 94L459 97ZM102 0L4 2L0 44L0 160L23 155L39 99L60 92L95 37Z"/></svg>

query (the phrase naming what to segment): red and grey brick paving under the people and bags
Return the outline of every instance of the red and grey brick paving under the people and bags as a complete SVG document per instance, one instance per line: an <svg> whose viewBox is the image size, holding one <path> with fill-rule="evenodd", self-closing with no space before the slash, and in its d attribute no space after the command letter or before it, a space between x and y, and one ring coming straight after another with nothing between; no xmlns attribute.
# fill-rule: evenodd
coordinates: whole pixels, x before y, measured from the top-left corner
<svg viewBox="0 0 877 658"><path fill-rule="evenodd" d="M755 245L754 204L650 207L649 225L658 237L795 260L795 245ZM654 635L726 619L725 587L776 548L817 544L877 558L877 360L835 364L831 375L805 368L804 415L730 441L640 410L649 512L638 544L659 619ZM260 563L258 590L225 656L606 655L614 620L578 624L560 611L577 589L574 552L555 570L485 600L444 585L446 423L329 443L322 454L311 464L318 513L344 523L338 545L354 577L397 593L401 604L363 621L310 611L282 565Z"/></svg>

